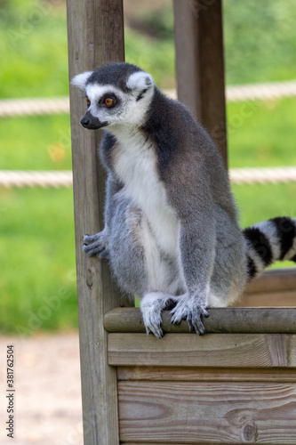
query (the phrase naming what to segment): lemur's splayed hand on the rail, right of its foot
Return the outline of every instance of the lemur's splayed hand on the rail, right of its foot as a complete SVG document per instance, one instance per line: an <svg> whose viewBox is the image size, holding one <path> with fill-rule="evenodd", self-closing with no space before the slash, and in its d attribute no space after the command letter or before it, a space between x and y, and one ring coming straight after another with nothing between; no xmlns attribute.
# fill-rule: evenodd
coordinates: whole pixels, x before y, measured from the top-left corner
<svg viewBox="0 0 296 445"><path fill-rule="evenodd" d="M202 336L205 333L202 317L209 317L209 312L206 311L205 298L196 295L182 295L179 302L172 309L172 324L179 325L181 320L188 320L188 325L191 331L196 331L196 334Z"/></svg>

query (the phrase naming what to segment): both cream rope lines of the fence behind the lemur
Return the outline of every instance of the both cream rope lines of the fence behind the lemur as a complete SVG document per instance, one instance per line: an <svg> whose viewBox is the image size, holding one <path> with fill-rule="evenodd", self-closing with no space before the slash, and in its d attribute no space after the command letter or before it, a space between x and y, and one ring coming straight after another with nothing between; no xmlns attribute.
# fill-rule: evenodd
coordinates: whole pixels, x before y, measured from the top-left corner
<svg viewBox="0 0 296 445"><path fill-rule="evenodd" d="M174 90L168 96L176 97ZM296 96L296 80L252 85L231 85L226 88L227 101L267 101ZM68 97L7 99L0 101L0 117L49 115L69 112ZM296 166L231 168L234 184L296 182ZM71 171L0 170L0 187L71 187Z"/></svg>

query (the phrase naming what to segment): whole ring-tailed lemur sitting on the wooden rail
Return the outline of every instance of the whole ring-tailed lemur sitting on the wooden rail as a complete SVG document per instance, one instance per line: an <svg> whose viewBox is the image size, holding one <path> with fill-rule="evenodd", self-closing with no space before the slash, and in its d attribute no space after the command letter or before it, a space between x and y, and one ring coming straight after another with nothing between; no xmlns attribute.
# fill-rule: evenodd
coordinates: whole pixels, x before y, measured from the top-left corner
<svg viewBox="0 0 296 445"><path fill-rule="evenodd" d="M128 63L79 74L85 128L106 131L105 228L84 252L108 257L119 287L140 295L147 332L161 337L161 312L204 333L208 307L227 306L276 260L296 260L296 220L241 231L228 173L204 128L153 78Z"/></svg>

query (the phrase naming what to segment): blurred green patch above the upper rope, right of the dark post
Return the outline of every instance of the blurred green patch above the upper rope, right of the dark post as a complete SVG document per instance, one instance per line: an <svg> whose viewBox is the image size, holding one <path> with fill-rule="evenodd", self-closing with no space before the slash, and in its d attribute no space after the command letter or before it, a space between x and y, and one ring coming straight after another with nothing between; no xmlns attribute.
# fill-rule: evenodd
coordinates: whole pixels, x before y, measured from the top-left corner
<svg viewBox="0 0 296 445"><path fill-rule="evenodd" d="M228 85L295 78L294 0L224 0Z"/></svg>

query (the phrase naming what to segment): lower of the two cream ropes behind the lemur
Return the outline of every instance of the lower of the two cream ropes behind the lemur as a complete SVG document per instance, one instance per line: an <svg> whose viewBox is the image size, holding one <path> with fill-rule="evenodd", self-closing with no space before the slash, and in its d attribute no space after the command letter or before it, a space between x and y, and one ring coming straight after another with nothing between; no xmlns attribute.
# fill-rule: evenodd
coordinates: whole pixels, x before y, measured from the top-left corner
<svg viewBox="0 0 296 445"><path fill-rule="evenodd" d="M230 168L229 177L237 185L296 182L296 166ZM72 172L0 170L0 187L72 187Z"/></svg>

